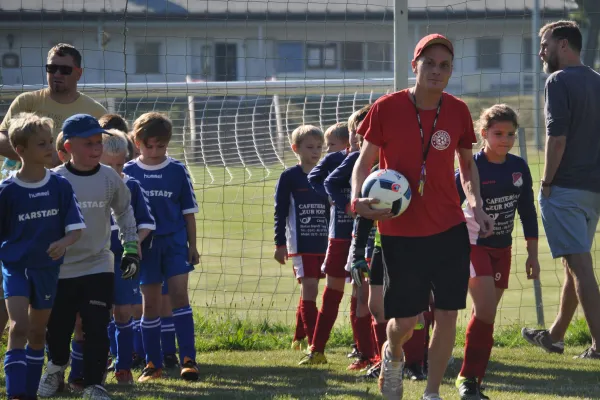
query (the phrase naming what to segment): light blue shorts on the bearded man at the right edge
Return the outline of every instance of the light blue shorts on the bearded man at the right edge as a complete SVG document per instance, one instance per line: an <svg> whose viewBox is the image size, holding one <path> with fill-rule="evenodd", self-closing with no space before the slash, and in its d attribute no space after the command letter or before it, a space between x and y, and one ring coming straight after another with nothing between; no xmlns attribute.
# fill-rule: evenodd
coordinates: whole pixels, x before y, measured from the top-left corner
<svg viewBox="0 0 600 400"><path fill-rule="evenodd" d="M552 186L539 195L542 222L553 258L589 253L600 216L600 193Z"/></svg>

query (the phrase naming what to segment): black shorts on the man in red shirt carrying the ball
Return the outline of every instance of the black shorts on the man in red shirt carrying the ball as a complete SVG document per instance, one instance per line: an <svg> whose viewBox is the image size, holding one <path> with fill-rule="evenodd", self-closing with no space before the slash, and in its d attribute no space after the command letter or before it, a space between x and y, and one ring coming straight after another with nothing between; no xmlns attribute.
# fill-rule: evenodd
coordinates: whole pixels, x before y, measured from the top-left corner
<svg viewBox="0 0 600 400"><path fill-rule="evenodd" d="M466 308L471 246L465 223L427 237L381 235L385 318Z"/></svg>

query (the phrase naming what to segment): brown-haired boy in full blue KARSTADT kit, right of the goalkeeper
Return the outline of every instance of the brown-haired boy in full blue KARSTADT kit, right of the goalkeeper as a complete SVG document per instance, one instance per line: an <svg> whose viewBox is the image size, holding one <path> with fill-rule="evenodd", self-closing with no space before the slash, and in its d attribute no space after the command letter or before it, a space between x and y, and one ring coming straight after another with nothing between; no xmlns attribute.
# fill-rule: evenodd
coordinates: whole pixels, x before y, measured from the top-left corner
<svg viewBox="0 0 600 400"><path fill-rule="evenodd" d="M142 339L146 368L139 382L162 376L161 286L168 283L173 306L173 325L179 343L181 377L198 379L194 318L188 297L188 275L198 264L196 219L198 203L185 165L167 156L173 126L162 114L141 115L134 123L135 144L141 155L125 165L123 172L140 181L150 201L156 230L142 243L144 259L140 284L144 297Z"/></svg>

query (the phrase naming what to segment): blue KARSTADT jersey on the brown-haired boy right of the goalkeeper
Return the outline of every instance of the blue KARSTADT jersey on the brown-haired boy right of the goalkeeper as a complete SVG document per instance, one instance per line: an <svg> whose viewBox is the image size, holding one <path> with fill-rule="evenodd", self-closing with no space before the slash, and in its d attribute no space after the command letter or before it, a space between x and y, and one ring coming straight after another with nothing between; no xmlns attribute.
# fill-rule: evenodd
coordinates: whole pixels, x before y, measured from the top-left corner
<svg viewBox="0 0 600 400"><path fill-rule="evenodd" d="M139 181L156 219L155 235L170 235L185 228L185 214L198 212L192 179L185 165L167 157L159 165L139 158L125 164L123 172Z"/></svg>

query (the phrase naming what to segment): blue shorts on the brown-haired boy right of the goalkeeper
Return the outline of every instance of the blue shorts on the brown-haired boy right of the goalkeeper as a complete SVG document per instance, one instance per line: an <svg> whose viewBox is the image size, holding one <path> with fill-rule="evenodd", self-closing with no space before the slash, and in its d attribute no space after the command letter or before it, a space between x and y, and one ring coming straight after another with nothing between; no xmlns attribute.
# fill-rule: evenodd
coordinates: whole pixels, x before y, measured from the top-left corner
<svg viewBox="0 0 600 400"><path fill-rule="evenodd" d="M150 236L142 243L140 284L162 283L177 275L187 274L194 266L187 262L187 231L171 235Z"/></svg>

